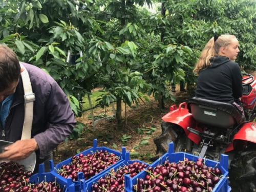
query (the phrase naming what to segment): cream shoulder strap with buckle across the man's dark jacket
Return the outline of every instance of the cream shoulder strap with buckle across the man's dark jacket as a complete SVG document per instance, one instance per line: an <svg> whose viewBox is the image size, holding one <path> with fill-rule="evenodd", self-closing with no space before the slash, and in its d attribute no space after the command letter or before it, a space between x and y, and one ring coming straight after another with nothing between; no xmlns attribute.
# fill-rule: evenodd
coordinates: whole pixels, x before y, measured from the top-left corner
<svg viewBox="0 0 256 192"><path fill-rule="evenodd" d="M25 104L25 117L24 117L23 131L22 131L22 140L24 140L24 139L31 139L31 128L32 128L33 109L34 109L33 101L35 101L35 94L32 91L29 73L27 69L22 65L22 63L19 63L19 64L20 64L20 67L24 69L24 71L21 73L23 88L24 88L24 104Z"/></svg>

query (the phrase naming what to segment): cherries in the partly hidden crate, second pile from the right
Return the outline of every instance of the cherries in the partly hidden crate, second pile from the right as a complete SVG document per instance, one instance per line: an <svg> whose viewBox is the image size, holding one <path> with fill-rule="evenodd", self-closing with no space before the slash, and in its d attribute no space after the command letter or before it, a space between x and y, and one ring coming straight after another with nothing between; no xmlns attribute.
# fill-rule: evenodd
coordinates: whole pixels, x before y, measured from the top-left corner
<svg viewBox="0 0 256 192"><path fill-rule="evenodd" d="M105 178L99 179L99 181L93 185L92 192L102 192L102 191L116 191L116 192L124 192L124 175L130 174L130 177L134 177L141 170L145 169L147 164L134 162L129 165L125 165L120 167L119 169L114 171L111 169L110 173L105 176Z"/></svg>

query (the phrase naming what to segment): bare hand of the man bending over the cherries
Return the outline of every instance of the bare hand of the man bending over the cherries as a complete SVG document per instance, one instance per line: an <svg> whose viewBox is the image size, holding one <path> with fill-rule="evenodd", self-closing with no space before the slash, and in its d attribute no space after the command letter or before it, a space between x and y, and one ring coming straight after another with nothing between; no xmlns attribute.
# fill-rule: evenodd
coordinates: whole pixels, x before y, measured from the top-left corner
<svg viewBox="0 0 256 192"><path fill-rule="evenodd" d="M6 152L0 154L0 159L19 161L27 158L34 151L38 150L38 145L34 138L18 140L5 147L5 150Z"/></svg>

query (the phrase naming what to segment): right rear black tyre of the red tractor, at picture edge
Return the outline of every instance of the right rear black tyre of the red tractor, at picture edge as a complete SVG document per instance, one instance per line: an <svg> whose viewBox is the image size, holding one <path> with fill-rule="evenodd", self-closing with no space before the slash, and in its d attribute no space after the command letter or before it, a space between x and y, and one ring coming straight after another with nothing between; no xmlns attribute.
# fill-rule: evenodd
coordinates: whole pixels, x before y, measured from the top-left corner
<svg viewBox="0 0 256 192"><path fill-rule="evenodd" d="M241 158L241 177L237 178L240 192L256 191L256 153L252 153Z"/></svg>

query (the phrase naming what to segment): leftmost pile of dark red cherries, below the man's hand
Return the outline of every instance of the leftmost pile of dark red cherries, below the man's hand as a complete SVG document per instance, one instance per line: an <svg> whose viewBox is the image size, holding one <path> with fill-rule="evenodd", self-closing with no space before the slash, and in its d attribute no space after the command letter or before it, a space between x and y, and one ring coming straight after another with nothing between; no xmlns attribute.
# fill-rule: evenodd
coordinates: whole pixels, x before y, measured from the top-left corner
<svg viewBox="0 0 256 192"><path fill-rule="evenodd" d="M24 165L15 162L0 163L0 192L62 191L55 181L29 184L29 178L32 175L31 171L25 170Z"/></svg>

